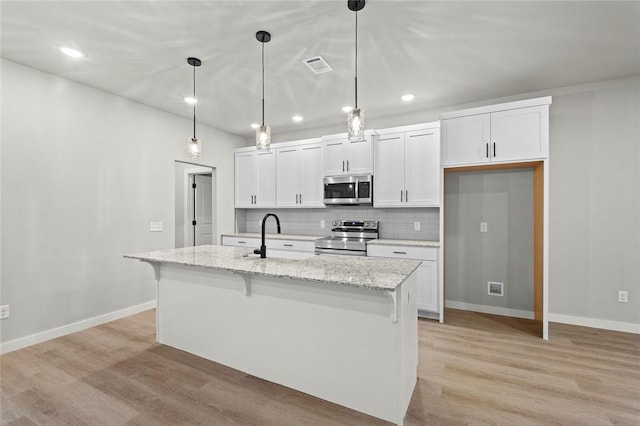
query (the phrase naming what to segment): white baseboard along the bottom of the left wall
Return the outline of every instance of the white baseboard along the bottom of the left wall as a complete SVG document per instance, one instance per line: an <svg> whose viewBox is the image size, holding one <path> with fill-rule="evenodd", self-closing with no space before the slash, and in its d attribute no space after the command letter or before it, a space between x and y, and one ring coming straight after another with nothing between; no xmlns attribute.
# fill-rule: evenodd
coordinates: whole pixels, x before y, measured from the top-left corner
<svg viewBox="0 0 640 426"><path fill-rule="evenodd" d="M20 337L15 340L0 343L0 354L6 354L16 351L18 349L26 348L27 346L35 345L37 343L46 342L47 340L62 337L67 334L75 333L77 331L85 330L96 325L104 324L110 321L115 321L120 318L128 317L139 312L143 312L156 307L156 301L151 300L149 302L141 303L139 305L131 306L129 308L120 309L118 311L109 312L107 314L98 315L97 317L88 318L86 320L74 322L72 324L63 325L61 327L52 328L51 330L42 331L40 333L32 334L25 337Z"/></svg>

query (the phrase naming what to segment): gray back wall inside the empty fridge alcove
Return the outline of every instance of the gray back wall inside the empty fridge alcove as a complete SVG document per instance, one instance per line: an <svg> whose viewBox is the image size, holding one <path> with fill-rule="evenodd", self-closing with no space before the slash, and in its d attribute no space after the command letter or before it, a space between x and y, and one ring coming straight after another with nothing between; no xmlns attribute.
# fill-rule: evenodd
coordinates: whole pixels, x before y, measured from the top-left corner
<svg viewBox="0 0 640 426"><path fill-rule="evenodd" d="M532 313L533 169L447 173L445 206L448 306ZM504 295L489 295L487 281L503 283Z"/></svg>

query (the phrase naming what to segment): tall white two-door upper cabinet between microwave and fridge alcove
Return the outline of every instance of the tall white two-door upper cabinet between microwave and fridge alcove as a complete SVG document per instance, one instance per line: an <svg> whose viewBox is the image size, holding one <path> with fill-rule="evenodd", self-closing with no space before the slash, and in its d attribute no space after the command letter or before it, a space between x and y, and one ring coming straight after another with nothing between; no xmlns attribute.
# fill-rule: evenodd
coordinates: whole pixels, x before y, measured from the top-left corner
<svg viewBox="0 0 640 426"><path fill-rule="evenodd" d="M373 146L375 207L439 205L439 123L379 130Z"/></svg>

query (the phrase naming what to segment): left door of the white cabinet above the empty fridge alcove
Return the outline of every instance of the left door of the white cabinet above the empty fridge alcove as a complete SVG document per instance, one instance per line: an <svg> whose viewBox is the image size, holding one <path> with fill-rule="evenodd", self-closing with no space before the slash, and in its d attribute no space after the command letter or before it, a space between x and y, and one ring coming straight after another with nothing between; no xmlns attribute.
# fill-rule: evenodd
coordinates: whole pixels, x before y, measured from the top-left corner
<svg viewBox="0 0 640 426"><path fill-rule="evenodd" d="M441 121L442 165L488 163L491 119L489 114Z"/></svg>

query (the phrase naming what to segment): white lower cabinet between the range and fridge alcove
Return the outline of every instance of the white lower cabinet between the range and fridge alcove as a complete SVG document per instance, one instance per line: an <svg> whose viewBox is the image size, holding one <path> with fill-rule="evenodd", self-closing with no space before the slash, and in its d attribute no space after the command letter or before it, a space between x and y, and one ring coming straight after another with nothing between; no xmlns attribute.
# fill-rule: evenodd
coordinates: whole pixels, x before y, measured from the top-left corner
<svg viewBox="0 0 640 426"><path fill-rule="evenodd" d="M438 319L438 248L367 245L367 256L422 260L418 267L418 315Z"/></svg>

